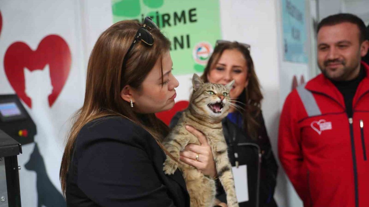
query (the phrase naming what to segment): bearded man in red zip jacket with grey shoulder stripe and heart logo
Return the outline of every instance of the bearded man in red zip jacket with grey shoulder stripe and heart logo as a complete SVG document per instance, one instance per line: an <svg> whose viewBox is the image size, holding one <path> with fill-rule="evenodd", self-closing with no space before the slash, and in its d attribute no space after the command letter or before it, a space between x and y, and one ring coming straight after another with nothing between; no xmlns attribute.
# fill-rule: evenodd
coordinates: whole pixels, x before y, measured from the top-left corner
<svg viewBox="0 0 369 207"><path fill-rule="evenodd" d="M322 74L287 97L279 158L313 207L369 206L369 41L363 21L336 14L318 24Z"/></svg>

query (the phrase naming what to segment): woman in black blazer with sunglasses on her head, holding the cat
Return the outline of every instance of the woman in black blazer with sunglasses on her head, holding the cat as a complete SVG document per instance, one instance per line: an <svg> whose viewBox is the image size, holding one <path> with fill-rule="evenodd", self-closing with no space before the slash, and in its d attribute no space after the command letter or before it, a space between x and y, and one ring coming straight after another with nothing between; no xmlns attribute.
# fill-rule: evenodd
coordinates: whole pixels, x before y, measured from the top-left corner
<svg viewBox="0 0 369 207"><path fill-rule="evenodd" d="M97 40L85 102L75 116L60 169L68 206L188 207L182 174L165 175L168 127L154 113L174 106L170 42L148 17L120 21ZM206 137L189 127L203 150ZM201 170L215 176L211 153Z"/></svg>

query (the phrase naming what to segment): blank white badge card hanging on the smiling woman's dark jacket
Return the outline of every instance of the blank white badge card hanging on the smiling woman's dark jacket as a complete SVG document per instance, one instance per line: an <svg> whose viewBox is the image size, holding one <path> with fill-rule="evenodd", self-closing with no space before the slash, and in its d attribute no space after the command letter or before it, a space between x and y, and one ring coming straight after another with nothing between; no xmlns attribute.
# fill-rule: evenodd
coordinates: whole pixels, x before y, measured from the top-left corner
<svg viewBox="0 0 369 207"><path fill-rule="evenodd" d="M247 165L232 167L234 185L238 203L249 200L249 189L247 183Z"/></svg>

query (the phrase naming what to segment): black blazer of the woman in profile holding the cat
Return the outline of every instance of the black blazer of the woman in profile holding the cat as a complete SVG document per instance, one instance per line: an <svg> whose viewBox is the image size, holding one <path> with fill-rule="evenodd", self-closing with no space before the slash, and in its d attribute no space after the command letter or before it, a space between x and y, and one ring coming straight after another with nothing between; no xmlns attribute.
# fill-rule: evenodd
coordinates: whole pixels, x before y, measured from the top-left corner
<svg viewBox="0 0 369 207"><path fill-rule="evenodd" d="M69 207L188 207L180 171L163 172L165 153L142 127L103 117L79 132L69 166Z"/></svg>

